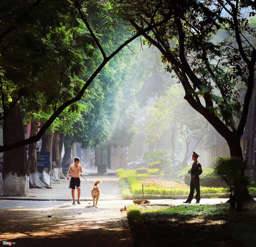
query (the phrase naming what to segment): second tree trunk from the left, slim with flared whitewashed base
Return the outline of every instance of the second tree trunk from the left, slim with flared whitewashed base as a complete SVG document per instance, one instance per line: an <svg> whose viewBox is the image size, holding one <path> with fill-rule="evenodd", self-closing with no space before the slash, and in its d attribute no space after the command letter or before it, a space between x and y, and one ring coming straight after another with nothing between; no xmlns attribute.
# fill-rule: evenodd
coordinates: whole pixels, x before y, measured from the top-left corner
<svg viewBox="0 0 256 247"><path fill-rule="evenodd" d="M34 136L38 132L38 121L31 123L30 135ZM50 188L46 184L43 184L38 176L36 166L36 142L29 144L28 146L28 169L29 169L29 188Z"/></svg>

